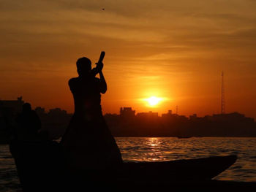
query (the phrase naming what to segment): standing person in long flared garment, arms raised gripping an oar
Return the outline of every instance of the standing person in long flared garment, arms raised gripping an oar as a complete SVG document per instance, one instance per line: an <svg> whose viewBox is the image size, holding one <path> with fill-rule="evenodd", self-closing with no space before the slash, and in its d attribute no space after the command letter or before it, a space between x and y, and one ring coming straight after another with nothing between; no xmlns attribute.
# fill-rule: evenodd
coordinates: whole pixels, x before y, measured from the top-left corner
<svg viewBox="0 0 256 192"><path fill-rule="evenodd" d="M75 113L61 139L71 171L108 169L122 163L121 153L108 129L100 105L101 93L107 91L103 64L91 69L89 58L79 58L78 77L69 80ZM95 75L99 73L99 77Z"/></svg>

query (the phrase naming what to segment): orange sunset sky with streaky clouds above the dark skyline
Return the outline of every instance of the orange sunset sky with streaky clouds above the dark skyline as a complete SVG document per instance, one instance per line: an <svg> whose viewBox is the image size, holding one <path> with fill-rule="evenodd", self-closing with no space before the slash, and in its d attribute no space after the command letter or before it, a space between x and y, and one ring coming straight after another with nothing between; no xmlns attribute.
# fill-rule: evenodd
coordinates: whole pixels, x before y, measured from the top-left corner
<svg viewBox="0 0 256 192"><path fill-rule="evenodd" d="M105 10L102 10L102 9ZM73 112L75 62L105 50L103 112L256 118L254 0L0 0L0 99ZM162 98L155 107L151 96Z"/></svg>

